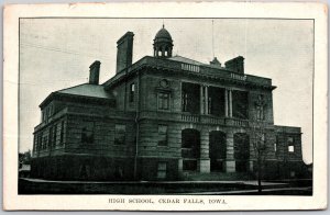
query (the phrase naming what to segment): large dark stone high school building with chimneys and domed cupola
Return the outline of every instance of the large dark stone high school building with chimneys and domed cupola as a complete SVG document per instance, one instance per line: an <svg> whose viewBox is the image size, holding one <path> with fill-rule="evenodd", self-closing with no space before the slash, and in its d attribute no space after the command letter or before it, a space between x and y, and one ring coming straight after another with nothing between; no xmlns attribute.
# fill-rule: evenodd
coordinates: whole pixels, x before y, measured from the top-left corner
<svg viewBox="0 0 330 215"><path fill-rule="evenodd" d="M31 174L58 180L304 178L300 127L274 125L268 78L244 58L210 64L173 56L161 29L154 56L132 64L132 32L118 42L116 76L52 92L34 129ZM262 154L258 154L262 151ZM258 156L260 155L260 156Z"/></svg>

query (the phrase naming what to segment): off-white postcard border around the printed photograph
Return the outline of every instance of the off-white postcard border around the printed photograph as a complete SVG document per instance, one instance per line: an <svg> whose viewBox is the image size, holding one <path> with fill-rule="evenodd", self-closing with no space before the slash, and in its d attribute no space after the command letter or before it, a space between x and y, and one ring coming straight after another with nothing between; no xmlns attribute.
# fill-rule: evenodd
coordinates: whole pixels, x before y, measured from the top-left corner
<svg viewBox="0 0 330 215"><path fill-rule="evenodd" d="M321 3L180 2L12 4L3 11L3 207L4 210L240 211L321 210L327 207L327 14ZM312 196L180 196L224 199L228 204L109 204L111 195L18 195L19 18L278 18L315 19L314 195ZM166 195L170 197L170 195Z"/></svg>

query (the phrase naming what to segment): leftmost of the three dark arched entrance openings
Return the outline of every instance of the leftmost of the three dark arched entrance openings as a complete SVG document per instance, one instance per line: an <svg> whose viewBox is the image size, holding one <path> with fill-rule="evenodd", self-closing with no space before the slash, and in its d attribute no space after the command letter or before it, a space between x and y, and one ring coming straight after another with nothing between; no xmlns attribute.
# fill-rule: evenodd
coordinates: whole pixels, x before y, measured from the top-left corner
<svg viewBox="0 0 330 215"><path fill-rule="evenodd" d="M196 171L197 159L200 157L200 134L197 129L182 131L183 170Z"/></svg>

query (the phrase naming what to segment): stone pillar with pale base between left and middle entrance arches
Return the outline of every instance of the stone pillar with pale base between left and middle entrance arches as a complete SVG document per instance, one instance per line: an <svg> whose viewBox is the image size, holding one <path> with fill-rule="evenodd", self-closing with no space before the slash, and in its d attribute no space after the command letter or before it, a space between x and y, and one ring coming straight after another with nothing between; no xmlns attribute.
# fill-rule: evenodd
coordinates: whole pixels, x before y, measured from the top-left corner
<svg viewBox="0 0 330 215"><path fill-rule="evenodd" d="M197 161L199 172L210 172L210 156L209 156L209 131L204 129L200 134L200 158Z"/></svg>

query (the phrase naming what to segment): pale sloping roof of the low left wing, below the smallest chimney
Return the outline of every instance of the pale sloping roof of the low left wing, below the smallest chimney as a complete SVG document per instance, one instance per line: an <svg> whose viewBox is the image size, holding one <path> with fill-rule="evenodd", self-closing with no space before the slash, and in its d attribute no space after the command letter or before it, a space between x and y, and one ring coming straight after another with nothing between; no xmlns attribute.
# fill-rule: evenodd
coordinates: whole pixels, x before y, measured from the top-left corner
<svg viewBox="0 0 330 215"><path fill-rule="evenodd" d="M105 90L103 86L97 86L90 83L82 83L80 86L75 86L72 88L58 90L56 92L65 93L65 94L101 98L101 99L112 99L112 97Z"/></svg>

